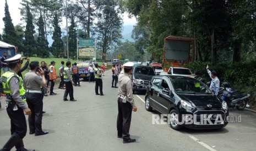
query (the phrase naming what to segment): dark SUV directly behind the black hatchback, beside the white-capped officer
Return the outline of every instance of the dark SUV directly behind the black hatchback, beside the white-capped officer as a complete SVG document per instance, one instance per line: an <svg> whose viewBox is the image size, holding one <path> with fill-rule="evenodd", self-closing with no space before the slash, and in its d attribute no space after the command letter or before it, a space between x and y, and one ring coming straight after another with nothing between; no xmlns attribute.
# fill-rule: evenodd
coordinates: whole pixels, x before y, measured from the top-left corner
<svg viewBox="0 0 256 151"><path fill-rule="evenodd" d="M133 69L133 94L135 91L146 91L151 78L156 75L150 66L135 66Z"/></svg>

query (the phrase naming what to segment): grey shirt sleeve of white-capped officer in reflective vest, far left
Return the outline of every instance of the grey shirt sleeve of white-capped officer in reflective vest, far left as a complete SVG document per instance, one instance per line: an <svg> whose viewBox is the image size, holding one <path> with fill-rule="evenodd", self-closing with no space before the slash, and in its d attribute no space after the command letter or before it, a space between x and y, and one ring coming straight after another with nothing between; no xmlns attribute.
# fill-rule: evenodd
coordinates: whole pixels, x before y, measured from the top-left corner
<svg viewBox="0 0 256 151"><path fill-rule="evenodd" d="M9 72L13 72L15 75L17 75L14 71L12 71L10 69ZM17 75L18 76L18 75ZM21 107L22 109L26 109L28 108L28 106L26 105L26 103L22 100L20 94L19 94L19 78L16 76L13 76L10 80L9 80L9 86L10 86L10 91L12 92L12 97L13 100L18 104L19 107Z"/></svg>

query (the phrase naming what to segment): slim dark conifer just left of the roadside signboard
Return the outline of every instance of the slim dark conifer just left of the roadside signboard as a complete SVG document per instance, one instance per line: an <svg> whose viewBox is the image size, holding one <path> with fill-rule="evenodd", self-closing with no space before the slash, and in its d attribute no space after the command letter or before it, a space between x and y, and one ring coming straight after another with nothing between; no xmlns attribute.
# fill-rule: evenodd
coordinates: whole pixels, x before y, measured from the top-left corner
<svg viewBox="0 0 256 151"><path fill-rule="evenodd" d="M69 53L74 59L74 57L77 56L77 30L75 30L75 21L74 21L74 16L71 13L71 25L68 27L68 49Z"/></svg>

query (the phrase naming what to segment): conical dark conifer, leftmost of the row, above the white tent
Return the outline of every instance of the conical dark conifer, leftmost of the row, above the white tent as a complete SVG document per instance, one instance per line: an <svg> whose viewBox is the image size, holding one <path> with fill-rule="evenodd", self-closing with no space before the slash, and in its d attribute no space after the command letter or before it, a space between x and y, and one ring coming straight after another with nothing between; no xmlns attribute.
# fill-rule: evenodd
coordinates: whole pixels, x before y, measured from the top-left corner
<svg viewBox="0 0 256 151"><path fill-rule="evenodd" d="M3 30L3 41L15 46L18 46L17 34L13 26L12 18L10 18L9 7L6 1L4 7L4 30Z"/></svg>

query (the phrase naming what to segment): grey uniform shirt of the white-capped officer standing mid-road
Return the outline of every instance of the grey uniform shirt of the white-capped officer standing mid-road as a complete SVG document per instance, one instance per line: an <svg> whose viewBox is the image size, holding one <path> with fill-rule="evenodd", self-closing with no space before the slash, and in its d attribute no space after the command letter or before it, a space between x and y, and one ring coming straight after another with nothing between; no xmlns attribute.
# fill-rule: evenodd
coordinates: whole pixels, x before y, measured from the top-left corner
<svg viewBox="0 0 256 151"><path fill-rule="evenodd" d="M132 88L132 80L130 79L129 75L122 72L118 77L118 94L126 96L128 99L127 101L135 106L134 99L133 99L133 88Z"/></svg>

